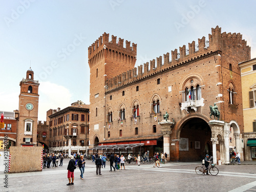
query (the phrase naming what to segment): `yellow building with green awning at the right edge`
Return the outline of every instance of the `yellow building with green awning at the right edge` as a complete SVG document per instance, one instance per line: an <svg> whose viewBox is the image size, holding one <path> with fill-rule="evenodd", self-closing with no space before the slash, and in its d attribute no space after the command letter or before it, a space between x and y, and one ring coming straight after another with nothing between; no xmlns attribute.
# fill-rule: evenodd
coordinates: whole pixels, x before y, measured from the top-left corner
<svg viewBox="0 0 256 192"><path fill-rule="evenodd" d="M245 161L256 161L256 58L239 63L242 80Z"/></svg>

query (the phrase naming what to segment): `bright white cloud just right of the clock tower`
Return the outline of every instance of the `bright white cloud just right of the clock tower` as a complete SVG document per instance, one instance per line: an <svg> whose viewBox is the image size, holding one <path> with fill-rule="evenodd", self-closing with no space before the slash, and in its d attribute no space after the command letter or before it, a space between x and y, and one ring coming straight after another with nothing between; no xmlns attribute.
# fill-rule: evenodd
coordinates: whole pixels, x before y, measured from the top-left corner
<svg viewBox="0 0 256 192"><path fill-rule="evenodd" d="M72 103L72 94L67 88L49 81L40 82L39 95L38 120L41 121L46 120L48 110L64 109Z"/></svg>

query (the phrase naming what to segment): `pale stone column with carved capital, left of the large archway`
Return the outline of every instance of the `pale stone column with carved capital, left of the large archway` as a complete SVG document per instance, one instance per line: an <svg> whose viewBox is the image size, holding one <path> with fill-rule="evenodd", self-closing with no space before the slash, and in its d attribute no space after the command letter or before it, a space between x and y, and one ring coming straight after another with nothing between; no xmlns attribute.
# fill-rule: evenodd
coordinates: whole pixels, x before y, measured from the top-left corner
<svg viewBox="0 0 256 192"><path fill-rule="evenodd" d="M158 124L161 125L161 133L163 134L163 153L167 154L166 160L170 161L170 134L172 133L174 122L162 120Z"/></svg>

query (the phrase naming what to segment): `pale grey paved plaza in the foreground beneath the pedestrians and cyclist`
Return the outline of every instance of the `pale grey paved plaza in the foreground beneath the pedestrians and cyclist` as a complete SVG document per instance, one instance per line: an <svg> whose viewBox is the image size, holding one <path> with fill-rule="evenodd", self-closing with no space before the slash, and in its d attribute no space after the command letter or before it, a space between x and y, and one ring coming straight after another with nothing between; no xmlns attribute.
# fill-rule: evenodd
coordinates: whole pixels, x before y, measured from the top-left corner
<svg viewBox="0 0 256 192"><path fill-rule="evenodd" d="M75 169L74 185L67 186L67 166L46 168L42 172L8 175L8 189L1 183L0 191L256 191L255 164L220 165L219 174L197 175L200 162L171 162L154 168L153 164L126 165L125 170L110 172L110 163L96 175L96 166L86 160L84 180ZM3 181L4 174L0 174Z"/></svg>

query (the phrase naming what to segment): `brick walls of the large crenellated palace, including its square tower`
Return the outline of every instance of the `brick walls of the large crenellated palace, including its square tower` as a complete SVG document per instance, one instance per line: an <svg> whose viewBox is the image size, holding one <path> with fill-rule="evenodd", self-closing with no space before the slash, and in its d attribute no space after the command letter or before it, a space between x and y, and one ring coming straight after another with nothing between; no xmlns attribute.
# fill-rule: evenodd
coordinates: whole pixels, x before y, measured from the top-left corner
<svg viewBox="0 0 256 192"><path fill-rule="evenodd" d="M105 36L104 33L103 37ZM96 137L100 143L106 143L114 139L125 141L128 138L161 136L160 125L155 121L154 116L156 113L157 120L162 120L162 115L168 112L169 119L173 118L175 121L175 127L170 135L170 156L173 160L186 160L185 156L195 154L193 143L199 141L197 132L201 128L196 126L194 128L196 131L193 131L192 125L186 123L193 118L198 118L196 125L200 125L202 120L206 122L203 123L204 127L201 130L204 131L200 134L204 135L205 131L209 130L208 136L200 142L200 150L196 152L195 157L192 157L192 160L198 160L199 155L205 155L205 145L210 143L211 131L207 122L211 120L209 105L214 103L220 111L220 120L231 122L233 124L231 126L243 134L241 77L238 62L250 58L250 48L246 46L246 41L242 39L240 33L221 33L221 28L217 26L211 29L208 42L202 37L198 39L198 45L193 41L188 44L188 49L183 46L180 47L179 53L177 49L172 51L171 58L169 58L170 54L166 53L163 57L153 59L150 63L146 62L138 68L134 68L136 60L133 59L133 65L130 65L130 62L126 63L126 68L122 71L125 63L119 59L119 55L132 55L132 50L133 58L136 58L136 49L134 46L130 49L126 48L125 53L124 48L118 50L120 45L115 45L113 42L115 38L113 39L112 36L111 42L103 41L98 49L94 48L97 42L89 47L92 146ZM113 49L114 52L107 51L109 49ZM94 59L99 53L101 53L100 59ZM194 90L194 99L186 98L188 93L185 92L186 88L190 91ZM201 94L197 97L196 93L200 92L199 89ZM232 91L231 102L230 91ZM96 97L96 94L99 95ZM159 103L159 109L154 110L153 105L156 103ZM135 109L137 106L138 109ZM96 116L96 108L98 116ZM119 120L122 109L125 110L123 126ZM136 124L133 117L135 110L139 111ZM111 113L112 122L109 122ZM232 120L235 123L232 123ZM109 124L111 127L107 129ZM156 130L153 128L154 125ZM135 135L136 127L138 134ZM186 127L188 127L187 131L184 131ZM180 152L181 137L189 138L189 147L192 142L191 147L194 150ZM222 142L223 137L219 140Z"/></svg>

